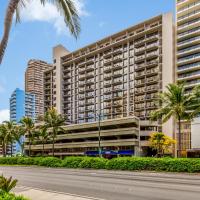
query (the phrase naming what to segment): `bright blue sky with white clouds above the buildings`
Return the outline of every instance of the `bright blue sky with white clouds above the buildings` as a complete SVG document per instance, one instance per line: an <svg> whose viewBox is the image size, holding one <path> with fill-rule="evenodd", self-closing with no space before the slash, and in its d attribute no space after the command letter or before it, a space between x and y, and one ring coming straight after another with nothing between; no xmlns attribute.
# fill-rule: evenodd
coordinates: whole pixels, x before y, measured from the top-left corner
<svg viewBox="0 0 200 200"><path fill-rule="evenodd" d="M17 87L24 89L30 59L51 63L52 47L57 44L74 51L148 18L175 11L175 0L73 0L81 18L81 34L76 40L52 4L43 7L40 0L29 1L21 10L21 23L13 23L0 65L0 123L9 119L11 93ZM7 4L8 0L1 0L0 39Z"/></svg>

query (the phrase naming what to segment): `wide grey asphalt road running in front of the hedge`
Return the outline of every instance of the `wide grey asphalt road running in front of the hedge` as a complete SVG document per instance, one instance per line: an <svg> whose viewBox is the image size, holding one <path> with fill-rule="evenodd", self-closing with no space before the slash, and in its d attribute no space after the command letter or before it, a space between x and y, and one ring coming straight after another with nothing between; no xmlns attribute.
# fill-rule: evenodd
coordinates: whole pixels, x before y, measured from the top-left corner
<svg viewBox="0 0 200 200"><path fill-rule="evenodd" d="M105 200L200 200L200 175L0 167L19 185Z"/></svg>

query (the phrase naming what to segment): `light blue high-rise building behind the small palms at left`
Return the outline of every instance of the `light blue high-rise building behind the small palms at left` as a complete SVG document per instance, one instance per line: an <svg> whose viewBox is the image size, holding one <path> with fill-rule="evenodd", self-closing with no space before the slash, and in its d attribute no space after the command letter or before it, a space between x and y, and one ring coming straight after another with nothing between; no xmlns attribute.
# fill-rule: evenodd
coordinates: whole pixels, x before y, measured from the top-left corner
<svg viewBox="0 0 200 200"><path fill-rule="evenodd" d="M19 123L25 116L35 120L35 95L17 88L10 97L10 121ZM18 143L15 144L14 149L15 154L21 152Z"/></svg>

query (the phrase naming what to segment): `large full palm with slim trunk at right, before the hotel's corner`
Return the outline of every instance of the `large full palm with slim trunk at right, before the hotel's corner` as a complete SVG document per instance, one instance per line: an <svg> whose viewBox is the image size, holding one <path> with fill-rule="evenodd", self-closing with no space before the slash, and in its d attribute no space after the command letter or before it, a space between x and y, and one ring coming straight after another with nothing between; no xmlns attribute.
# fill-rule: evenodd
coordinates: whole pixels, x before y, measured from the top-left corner
<svg viewBox="0 0 200 200"><path fill-rule="evenodd" d="M181 157L181 120L191 120L191 110L195 109L193 102L196 101L199 90L186 95L184 84L169 84L166 87L166 92L159 94L158 101L161 107L151 113L151 119L162 119L162 122L167 122L171 117L178 121L178 148L177 156Z"/></svg>

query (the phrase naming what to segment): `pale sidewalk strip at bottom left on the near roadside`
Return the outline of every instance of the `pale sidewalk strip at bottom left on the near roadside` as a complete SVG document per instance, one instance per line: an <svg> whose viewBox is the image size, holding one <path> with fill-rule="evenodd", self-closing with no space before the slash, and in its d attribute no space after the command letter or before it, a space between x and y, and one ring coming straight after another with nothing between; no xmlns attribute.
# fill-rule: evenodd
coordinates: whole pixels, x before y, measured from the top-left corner
<svg viewBox="0 0 200 200"><path fill-rule="evenodd" d="M14 193L16 195L23 195L29 198L30 200L103 200L91 197L81 197L73 194L64 194L64 193L28 188L23 186L17 187L14 190Z"/></svg>

